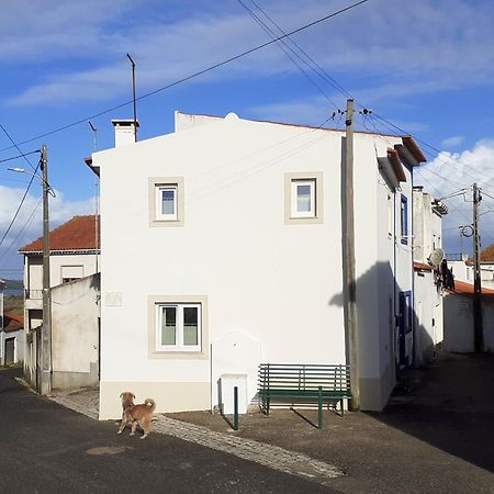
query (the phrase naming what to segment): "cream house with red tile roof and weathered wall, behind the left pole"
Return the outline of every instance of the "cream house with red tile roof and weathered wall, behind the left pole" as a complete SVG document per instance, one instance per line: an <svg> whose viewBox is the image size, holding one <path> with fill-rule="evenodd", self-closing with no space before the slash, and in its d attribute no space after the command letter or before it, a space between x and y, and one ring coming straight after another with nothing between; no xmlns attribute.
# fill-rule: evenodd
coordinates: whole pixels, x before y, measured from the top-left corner
<svg viewBox="0 0 494 494"><path fill-rule="evenodd" d="M49 233L54 389L90 386L99 379L99 218L75 216ZM40 388L43 324L43 239L24 255L24 374Z"/></svg>

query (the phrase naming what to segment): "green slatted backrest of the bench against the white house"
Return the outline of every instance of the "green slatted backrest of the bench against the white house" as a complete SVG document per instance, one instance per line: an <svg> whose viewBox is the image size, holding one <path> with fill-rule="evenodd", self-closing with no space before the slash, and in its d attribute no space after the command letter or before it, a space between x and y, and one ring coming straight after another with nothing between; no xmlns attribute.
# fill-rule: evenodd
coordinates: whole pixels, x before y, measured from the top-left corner
<svg viewBox="0 0 494 494"><path fill-rule="evenodd" d="M259 364L260 390L350 390L350 366L345 364Z"/></svg>

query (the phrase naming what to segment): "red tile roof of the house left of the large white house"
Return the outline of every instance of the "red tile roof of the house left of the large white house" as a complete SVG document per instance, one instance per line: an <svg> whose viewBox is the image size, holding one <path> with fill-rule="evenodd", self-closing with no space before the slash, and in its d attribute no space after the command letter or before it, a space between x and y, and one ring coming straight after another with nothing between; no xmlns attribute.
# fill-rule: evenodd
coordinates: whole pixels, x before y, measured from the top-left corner
<svg viewBox="0 0 494 494"><path fill-rule="evenodd" d="M100 232L98 216L98 232ZM74 216L67 223L49 232L49 250L94 250L100 245L96 242L94 215ZM43 251L43 237L19 249L20 252Z"/></svg>

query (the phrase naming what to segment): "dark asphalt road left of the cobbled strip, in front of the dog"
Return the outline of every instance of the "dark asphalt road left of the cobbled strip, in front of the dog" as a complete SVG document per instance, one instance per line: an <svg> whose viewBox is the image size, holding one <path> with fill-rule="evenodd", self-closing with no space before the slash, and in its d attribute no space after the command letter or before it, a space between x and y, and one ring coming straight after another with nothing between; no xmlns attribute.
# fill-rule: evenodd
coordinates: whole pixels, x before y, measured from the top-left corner
<svg viewBox="0 0 494 494"><path fill-rule="evenodd" d="M116 435L37 396L0 371L0 493L330 493L191 442Z"/></svg>

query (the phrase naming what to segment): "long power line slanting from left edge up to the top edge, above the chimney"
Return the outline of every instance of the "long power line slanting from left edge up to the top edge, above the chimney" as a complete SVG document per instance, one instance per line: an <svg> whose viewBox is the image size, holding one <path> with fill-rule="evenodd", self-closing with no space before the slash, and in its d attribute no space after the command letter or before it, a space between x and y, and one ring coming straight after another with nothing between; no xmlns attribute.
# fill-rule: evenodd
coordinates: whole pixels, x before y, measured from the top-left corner
<svg viewBox="0 0 494 494"><path fill-rule="evenodd" d="M245 57L247 55L250 55L250 54L252 54L255 52L258 52L259 49L266 48L267 46L270 46L270 45L272 45L273 43L277 43L280 40L284 40L284 38L287 38L289 36L292 36L293 34L300 33L300 32L302 32L302 31L304 31L304 30L306 30L308 27L312 27L312 26L314 26L316 24L319 24L319 23L322 23L324 21L327 21L328 19L335 18L336 15L345 13L345 12L347 12L347 11L349 11L351 9L355 9L356 7L359 7L359 5L363 4L363 3L367 3L368 1L369 0L360 0L360 1L356 2L356 3L352 3L352 4L350 4L348 7L345 7L345 8L340 9L340 10L337 10L336 12L327 14L324 18L319 18L319 19L317 19L317 20L315 20L313 22L310 22L308 24L305 24L305 25L303 25L301 27L297 27L296 30L293 30L293 31L291 31L291 32L289 32L287 34L283 34L282 36L278 36L276 40L271 40L271 41L268 41L266 43L262 43L261 45L258 45L258 46L256 46L254 48L247 49L246 52L243 52L243 53L240 53L238 55L234 55L233 57L226 58L223 61L218 61L217 64L214 64L214 65L212 65L212 66L210 66L210 67L207 67L205 69L199 70L199 71L197 71L194 74L191 74L190 76L186 76L186 77L183 77L181 79L178 79L175 82L170 82L169 85L162 86L162 87L157 88L157 89L155 89L155 90L153 90L150 92L142 94L138 98L136 98L136 101L144 100L145 98L149 98L149 97L151 97L154 94L157 94L158 92L161 92L161 91L165 91L167 89L173 88L175 86L178 86L178 85L180 85L182 82L187 82L187 81L189 81L191 79L194 79L195 77L202 76L202 75L207 74L207 72L210 72L210 71L212 71L212 70L214 70L216 68L220 68L220 67L222 67L224 65L227 65L227 64L229 64L232 61L238 60L239 58L243 58L243 57ZM133 104L133 103L134 103L134 100L130 100L130 101L126 101L124 103L117 104L115 106L109 108L106 110L102 110L101 112L94 113L93 115L85 116L81 120L78 120L76 122L69 123L67 125L63 125L63 126L57 127L57 128L54 128L53 131L45 132L44 134L40 134L40 135L37 135L35 137L30 137L29 139L25 139L25 141L22 141L21 143L19 143L19 145L27 144L27 143L31 143L33 141L41 139L42 137L47 137L48 135L53 135L53 134L56 134L58 132L66 131L67 128L75 127L76 125L80 125L82 123L86 124L88 122L88 120L98 119L99 116L105 115L106 113L111 113L111 112L113 112L115 110L119 110L119 109L121 109L123 106L126 106L126 105ZM8 150L8 149L11 149L12 147L13 146L9 146L9 147L5 147L3 149L0 149L0 153L4 151L4 150Z"/></svg>

